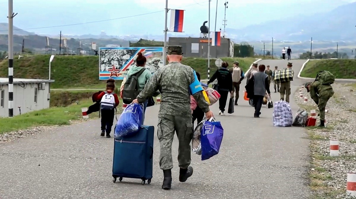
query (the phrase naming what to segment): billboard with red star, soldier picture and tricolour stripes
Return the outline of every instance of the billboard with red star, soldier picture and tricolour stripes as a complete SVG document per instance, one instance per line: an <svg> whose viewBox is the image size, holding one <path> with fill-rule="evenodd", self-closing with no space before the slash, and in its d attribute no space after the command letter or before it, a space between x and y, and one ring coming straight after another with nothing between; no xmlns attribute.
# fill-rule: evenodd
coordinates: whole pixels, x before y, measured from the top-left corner
<svg viewBox="0 0 356 199"><path fill-rule="evenodd" d="M99 79L122 80L130 67L136 64L137 53L142 52L151 73L163 66L163 47L101 47L99 48Z"/></svg>

